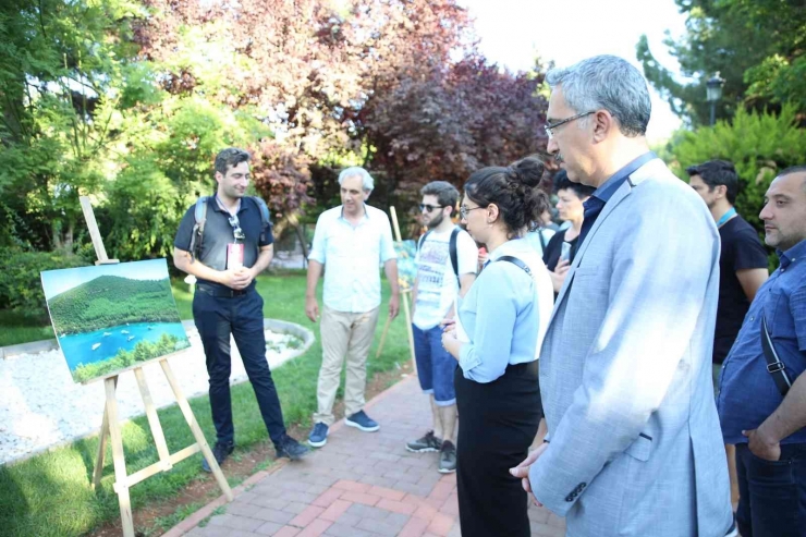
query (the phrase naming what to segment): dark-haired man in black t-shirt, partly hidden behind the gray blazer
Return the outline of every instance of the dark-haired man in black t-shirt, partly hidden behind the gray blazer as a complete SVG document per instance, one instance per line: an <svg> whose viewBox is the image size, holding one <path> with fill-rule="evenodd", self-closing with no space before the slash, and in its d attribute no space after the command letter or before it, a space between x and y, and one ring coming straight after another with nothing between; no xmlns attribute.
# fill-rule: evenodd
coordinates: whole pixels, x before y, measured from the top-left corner
<svg viewBox="0 0 806 537"><path fill-rule="evenodd" d="M744 316L761 284L767 281L767 251L756 230L736 213L733 204L738 193L736 169L725 160L709 160L686 169L688 184L700 195L719 228L722 249L719 255L719 304L713 334L713 391L719 392L722 362L736 340ZM735 451L725 446L731 477L731 495L738 501Z"/></svg>

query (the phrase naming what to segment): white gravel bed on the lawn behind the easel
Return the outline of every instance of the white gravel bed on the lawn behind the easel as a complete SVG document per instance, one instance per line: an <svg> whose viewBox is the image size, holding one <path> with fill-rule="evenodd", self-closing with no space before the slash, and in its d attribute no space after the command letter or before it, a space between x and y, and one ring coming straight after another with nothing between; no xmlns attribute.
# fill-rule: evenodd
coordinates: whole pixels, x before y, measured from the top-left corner
<svg viewBox="0 0 806 537"><path fill-rule="evenodd" d="M301 349L285 345L291 338L266 331L267 345L276 345L267 352L271 369L301 353ZM191 347L186 354L169 358L169 364L185 396L192 398L207 393L208 377L195 329L188 331L188 339ZM149 362L143 370L155 404L161 407L175 403L159 361ZM233 342L231 382L243 382L246 378ZM0 464L98 434L105 401L103 381L74 383L59 350L0 359ZM133 373L119 378L118 412L121 419L145 414Z"/></svg>

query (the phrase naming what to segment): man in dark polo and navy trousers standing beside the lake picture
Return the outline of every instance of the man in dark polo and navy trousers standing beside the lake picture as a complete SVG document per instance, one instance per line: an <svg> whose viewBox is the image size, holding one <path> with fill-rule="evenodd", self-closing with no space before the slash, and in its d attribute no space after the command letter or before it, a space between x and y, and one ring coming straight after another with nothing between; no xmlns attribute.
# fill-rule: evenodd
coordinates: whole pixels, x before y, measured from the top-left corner
<svg viewBox="0 0 806 537"><path fill-rule="evenodd" d="M196 207L185 212L173 242L178 269L197 278L193 318L207 357L210 410L216 427L212 453L221 464L235 447L230 398L230 335L241 353L260 414L277 456L297 460L308 449L285 432L282 408L266 359L262 297L255 278L271 263L273 236L257 202L246 196L249 154L224 149L216 157L218 190L207 200L204 236L197 232ZM198 248L194 242L199 241ZM195 252L194 252L195 251ZM210 472L207 461L202 467Z"/></svg>

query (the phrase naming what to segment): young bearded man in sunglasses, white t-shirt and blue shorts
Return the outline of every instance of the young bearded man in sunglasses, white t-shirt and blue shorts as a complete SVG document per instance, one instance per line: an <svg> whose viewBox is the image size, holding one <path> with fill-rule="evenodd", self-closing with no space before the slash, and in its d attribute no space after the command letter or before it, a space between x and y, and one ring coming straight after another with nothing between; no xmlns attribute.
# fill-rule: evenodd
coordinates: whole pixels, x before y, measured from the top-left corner
<svg viewBox="0 0 806 537"><path fill-rule="evenodd" d="M439 451L439 472L456 471L456 361L442 347L442 326L453 318L457 296L471 289L477 272L478 249L471 235L451 221L459 191L445 181L432 181L420 191L419 208L428 231L417 244L412 329L417 375L431 400L433 429L408 442L413 452Z"/></svg>

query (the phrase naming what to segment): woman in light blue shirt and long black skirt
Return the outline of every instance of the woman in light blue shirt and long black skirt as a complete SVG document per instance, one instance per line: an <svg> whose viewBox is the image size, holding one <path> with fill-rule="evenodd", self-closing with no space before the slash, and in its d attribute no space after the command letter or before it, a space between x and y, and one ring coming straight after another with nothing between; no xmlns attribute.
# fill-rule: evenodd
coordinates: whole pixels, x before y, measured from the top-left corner
<svg viewBox="0 0 806 537"><path fill-rule="evenodd" d="M544 163L529 157L467 180L462 221L489 261L442 337L459 361L459 511L463 537L530 535L526 492L509 468L523 461L542 416L537 358L553 304L548 270L520 240L548 208Z"/></svg>

